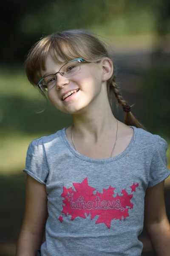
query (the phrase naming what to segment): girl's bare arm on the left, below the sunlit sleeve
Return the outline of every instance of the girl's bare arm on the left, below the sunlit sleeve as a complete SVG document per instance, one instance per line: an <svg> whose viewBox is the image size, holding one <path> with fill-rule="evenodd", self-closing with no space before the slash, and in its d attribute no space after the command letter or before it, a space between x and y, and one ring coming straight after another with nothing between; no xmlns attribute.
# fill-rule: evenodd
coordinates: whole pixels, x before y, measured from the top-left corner
<svg viewBox="0 0 170 256"><path fill-rule="evenodd" d="M27 175L26 206L16 256L35 256L40 248L47 218L45 185Z"/></svg>

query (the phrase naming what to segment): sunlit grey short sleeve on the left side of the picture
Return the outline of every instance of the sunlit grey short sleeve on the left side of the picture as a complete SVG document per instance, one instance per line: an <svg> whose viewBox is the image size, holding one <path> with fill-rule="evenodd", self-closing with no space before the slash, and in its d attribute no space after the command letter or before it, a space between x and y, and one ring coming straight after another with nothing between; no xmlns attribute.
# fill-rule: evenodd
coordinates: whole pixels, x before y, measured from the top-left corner
<svg viewBox="0 0 170 256"><path fill-rule="evenodd" d="M35 180L46 184L48 178L48 163L42 138L33 140L27 150L26 168L23 172L28 173Z"/></svg>

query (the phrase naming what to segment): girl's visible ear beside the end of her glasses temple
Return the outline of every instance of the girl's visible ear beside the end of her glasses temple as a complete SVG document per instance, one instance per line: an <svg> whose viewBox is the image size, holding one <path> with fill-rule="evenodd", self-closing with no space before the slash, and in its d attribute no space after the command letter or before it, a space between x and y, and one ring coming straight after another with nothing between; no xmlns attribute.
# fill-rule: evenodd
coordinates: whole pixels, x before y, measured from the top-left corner
<svg viewBox="0 0 170 256"><path fill-rule="evenodd" d="M102 81L107 81L113 75L113 62L109 58L104 58L101 61L102 64Z"/></svg>

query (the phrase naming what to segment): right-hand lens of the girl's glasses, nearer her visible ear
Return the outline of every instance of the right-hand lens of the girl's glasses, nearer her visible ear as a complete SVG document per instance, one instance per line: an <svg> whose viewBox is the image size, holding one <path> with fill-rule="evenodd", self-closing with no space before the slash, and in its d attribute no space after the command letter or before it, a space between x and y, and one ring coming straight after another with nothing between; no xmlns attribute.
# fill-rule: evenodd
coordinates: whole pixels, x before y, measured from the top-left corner
<svg viewBox="0 0 170 256"><path fill-rule="evenodd" d="M73 76L80 70L80 64L78 61L71 61L66 63L61 69L60 73L62 76L69 77Z"/></svg>

